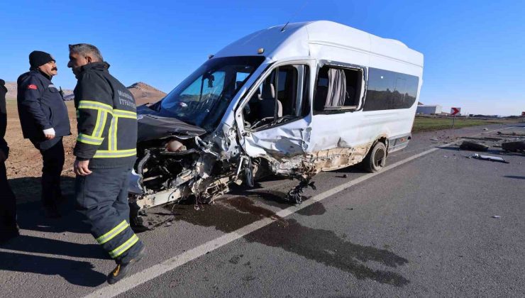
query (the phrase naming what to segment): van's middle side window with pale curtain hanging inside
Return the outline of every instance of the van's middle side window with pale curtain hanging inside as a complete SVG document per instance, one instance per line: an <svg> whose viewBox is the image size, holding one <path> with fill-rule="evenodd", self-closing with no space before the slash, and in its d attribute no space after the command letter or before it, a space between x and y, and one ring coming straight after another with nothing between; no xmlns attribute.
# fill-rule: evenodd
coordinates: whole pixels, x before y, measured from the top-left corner
<svg viewBox="0 0 525 298"><path fill-rule="evenodd" d="M314 111L358 109L363 82L363 70L321 67L317 75Z"/></svg>

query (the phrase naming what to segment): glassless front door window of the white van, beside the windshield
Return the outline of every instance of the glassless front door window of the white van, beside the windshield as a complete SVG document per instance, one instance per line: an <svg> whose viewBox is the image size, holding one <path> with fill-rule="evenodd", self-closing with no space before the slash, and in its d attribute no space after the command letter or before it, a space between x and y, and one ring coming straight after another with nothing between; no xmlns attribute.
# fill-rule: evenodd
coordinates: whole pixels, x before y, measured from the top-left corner
<svg viewBox="0 0 525 298"><path fill-rule="evenodd" d="M307 65L277 67L255 89L243 108L245 127L280 125L309 114Z"/></svg>

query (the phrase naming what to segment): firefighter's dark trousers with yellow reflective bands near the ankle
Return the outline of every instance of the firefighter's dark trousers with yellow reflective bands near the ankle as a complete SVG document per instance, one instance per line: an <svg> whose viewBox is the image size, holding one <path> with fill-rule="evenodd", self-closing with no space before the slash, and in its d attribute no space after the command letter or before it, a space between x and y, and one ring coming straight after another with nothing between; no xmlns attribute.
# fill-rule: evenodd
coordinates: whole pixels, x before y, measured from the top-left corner
<svg viewBox="0 0 525 298"><path fill-rule="evenodd" d="M143 243L129 226L128 179L131 167L94 168L77 176L77 208L87 218L96 241L117 263L133 259Z"/></svg>

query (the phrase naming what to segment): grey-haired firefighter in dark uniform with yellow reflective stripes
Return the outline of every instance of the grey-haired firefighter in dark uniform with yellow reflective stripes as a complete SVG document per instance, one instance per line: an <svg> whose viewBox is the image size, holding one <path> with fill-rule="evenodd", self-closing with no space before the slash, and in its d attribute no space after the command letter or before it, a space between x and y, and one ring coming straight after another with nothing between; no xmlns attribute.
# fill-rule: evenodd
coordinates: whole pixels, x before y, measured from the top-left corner
<svg viewBox="0 0 525 298"><path fill-rule="evenodd" d="M96 241L116 261L107 279L114 284L144 255L144 244L129 226L128 180L137 151L136 103L131 92L109 74L109 64L94 45L70 45L67 67L78 80L74 88L77 208Z"/></svg>

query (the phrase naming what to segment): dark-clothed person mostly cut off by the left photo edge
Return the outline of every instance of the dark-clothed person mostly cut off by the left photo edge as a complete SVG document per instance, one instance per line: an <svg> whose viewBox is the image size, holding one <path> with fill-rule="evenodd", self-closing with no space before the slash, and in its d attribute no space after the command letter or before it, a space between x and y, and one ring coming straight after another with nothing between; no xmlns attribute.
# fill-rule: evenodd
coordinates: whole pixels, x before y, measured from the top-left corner
<svg viewBox="0 0 525 298"><path fill-rule="evenodd" d="M7 182L5 159L9 157L9 147L4 140L7 126L5 82L0 79L0 243L18 236L16 226L16 199Z"/></svg>

